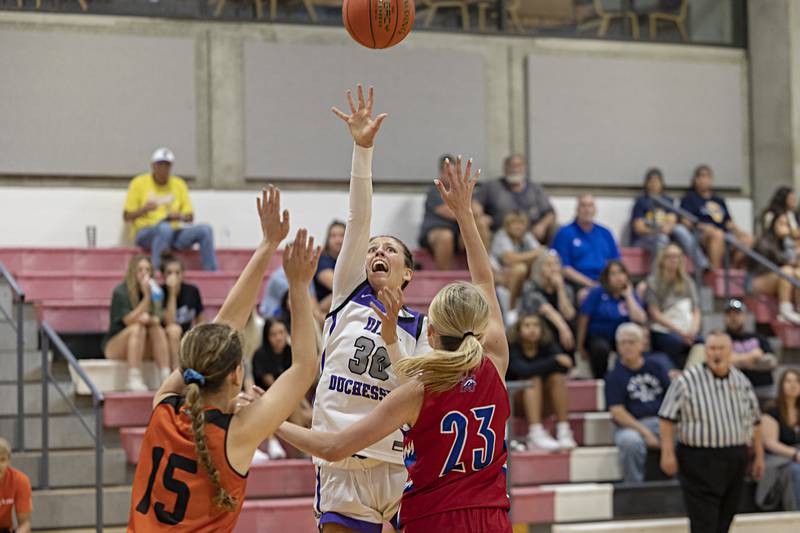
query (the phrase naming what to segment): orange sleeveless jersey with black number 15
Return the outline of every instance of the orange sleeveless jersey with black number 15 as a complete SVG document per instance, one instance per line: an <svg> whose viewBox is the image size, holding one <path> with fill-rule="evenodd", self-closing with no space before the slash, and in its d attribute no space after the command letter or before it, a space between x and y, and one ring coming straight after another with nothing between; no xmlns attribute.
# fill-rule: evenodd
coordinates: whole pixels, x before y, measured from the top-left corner
<svg viewBox="0 0 800 533"><path fill-rule="evenodd" d="M205 412L205 434L222 486L239 502L234 511L214 504L216 491L197 457L182 396L169 396L153 410L133 480L128 531L232 531L239 519L247 476L228 462L225 438L232 414Z"/></svg>

